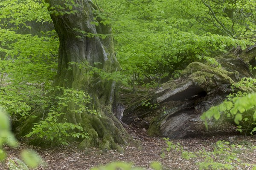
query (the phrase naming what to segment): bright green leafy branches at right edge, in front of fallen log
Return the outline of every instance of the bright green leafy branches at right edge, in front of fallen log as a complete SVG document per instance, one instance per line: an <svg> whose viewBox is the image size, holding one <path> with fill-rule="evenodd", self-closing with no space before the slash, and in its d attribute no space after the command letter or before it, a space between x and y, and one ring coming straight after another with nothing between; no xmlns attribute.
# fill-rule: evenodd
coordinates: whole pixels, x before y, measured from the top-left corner
<svg viewBox="0 0 256 170"><path fill-rule="evenodd" d="M240 82L233 84L232 88L240 88L245 91L253 91L250 88L255 88L256 79L242 78ZM207 126L207 120L214 117L218 120L221 115L232 118L238 125L240 132L245 131L245 134L253 134L256 132L256 92L248 94L247 92L231 93L227 96L227 100L218 106L210 108L207 112L201 116L205 120ZM240 121L247 122L246 127L239 125Z"/></svg>

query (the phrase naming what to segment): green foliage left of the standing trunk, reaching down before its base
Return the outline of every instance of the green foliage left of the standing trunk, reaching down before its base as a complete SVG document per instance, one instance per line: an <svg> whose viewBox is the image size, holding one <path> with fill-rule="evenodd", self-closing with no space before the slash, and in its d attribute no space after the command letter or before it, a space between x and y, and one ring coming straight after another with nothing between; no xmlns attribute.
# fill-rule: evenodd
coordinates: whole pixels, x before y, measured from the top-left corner
<svg viewBox="0 0 256 170"><path fill-rule="evenodd" d="M27 137L44 138L46 143L52 141L52 144L67 144L65 139L70 136L85 137L86 133L80 133L81 126L58 122L58 117L64 114L61 107L70 101L77 104L77 110L71 112L89 111L85 105L90 102L90 96L72 89L63 89L64 95L55 98L47 95L53 90L58 57L57 34L47 29L52 22L47 4L6 0L0 7L0 104L11 113L13 121L27 118L35 109L46 114ZM44 23L47 23L46 28ZM41 32L34 32L29 25L38 27ZM32 29L31 34L29 29ZM76 95L79 98L75 98ZM52 102L57 100L58 103ZM95 110L89 112L96 113ZM78 131L67 133L69 130Z"/></svg>

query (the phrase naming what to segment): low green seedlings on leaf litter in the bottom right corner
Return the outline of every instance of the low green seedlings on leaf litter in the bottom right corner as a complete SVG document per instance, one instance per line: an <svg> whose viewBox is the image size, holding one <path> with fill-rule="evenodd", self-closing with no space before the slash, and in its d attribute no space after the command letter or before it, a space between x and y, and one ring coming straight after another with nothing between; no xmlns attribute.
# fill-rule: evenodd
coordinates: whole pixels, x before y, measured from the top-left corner
<svg viewBox="0 0 256 170"><path fill-rule="evenodd" d="M231 170L236 167L252 168L256 170L256 164L251 164L243 160L241 156L244 152L255 152L256 146L245 146L241 144L231 144L228 141L217 141L213 146L212 151L207 151L205 148L195 152L189 152L183 149L180 143L173 143L165 138L168 147L165 149L168 152L178 152L183 159L193 161L198 166L199 170ZM162 157L165 157L165 152Z"/></svg>

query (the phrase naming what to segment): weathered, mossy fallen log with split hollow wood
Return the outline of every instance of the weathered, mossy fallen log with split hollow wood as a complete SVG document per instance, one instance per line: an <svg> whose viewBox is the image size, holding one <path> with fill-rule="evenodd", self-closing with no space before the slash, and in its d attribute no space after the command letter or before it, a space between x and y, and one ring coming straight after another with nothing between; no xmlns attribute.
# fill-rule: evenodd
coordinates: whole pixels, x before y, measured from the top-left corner
<svg viewBox="0 0 256 170"><path fill-rule="evenodd" d="M126 124L145 124L142 120L148 121L148 134L155 136L182 138L204 132L205 124L200 119L202 113L224 101L232 92L231 85L240 78L253 77L247 63L235 55L219 57L218 62L221 69L193 62L180 79L166 82L157 90L123 98L124 104L133 104L125 109L122 120ZM224 116L218 121L209 121L209 128L219 127L222 121Z"/></svg>

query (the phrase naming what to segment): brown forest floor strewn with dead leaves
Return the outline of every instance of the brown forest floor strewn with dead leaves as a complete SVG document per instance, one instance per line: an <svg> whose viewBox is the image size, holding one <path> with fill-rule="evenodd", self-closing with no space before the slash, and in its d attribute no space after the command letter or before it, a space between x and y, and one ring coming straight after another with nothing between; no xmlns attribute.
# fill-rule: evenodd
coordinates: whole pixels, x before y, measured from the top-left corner
<svg viewBox="0 0 256 170"><path fill-rule="evenodd" d="M181 152L177 150L166 151L166 141L163 138L152 138L146 135L145 130L141 129L128 129L128 132L134 140L140 140L142 149L138 150L137 147L130 145L124 146L125 153L118 153L116 150L110 150L104 154L98 154L96 148L87 150L79 150L76 144L61 147L32 147L26 144L20 144L18 148L5 147L8 153L8 159L17 157L24 148L30 148L37 151L47 167L40 167L38 170L89 170L103 164L108 164L113 161L126 161L133 162L135 166L143 167L150 170L150 163L152 161L160 161L163 165L163 170L196 170L198 169L197 162L203 161L202 158L190 158L186 160L182 158ZM219 135L218 135L219 134ZM216 142L219 140L230 141L232 144L240 144L241 148L236 148L235 153L237 157L233 163L236 170L249 170L252 166L243 164L256 164L256 136L244 137L237 133L215 133L208 136L194 136L185 139L172 140L173 144L180 143L184 151L197 152L204 148L205 151L213 151ZM231 145L228 145L231 146ZM165 149L165 157L162 158L162 150ZM228 154L228 153L227 153ZM220 155L221 156L221 155ZM239 162L239 159L241 162ZM214 158L215 161L218 158ZM221 159L220 159L221 160ZM224 160L222 160L224 161ZM237 164L237 165L235 165ZM7 170L6 164L0 163L0 170Z"/></svg>

